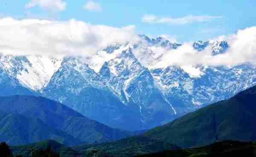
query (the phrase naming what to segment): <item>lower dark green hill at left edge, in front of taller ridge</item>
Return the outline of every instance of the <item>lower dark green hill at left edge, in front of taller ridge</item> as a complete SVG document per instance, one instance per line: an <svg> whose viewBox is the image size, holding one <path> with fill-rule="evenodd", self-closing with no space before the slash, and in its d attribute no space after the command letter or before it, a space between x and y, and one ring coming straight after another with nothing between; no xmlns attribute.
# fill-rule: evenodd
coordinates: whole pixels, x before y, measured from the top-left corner
<svg viewBox="0 0 256 157"><path fill-rule="evenodd" d="M0 141L6 141L9 145L18 145L44 139L58 140L66 145L81 143L73 136L47 126L40 119L0 112Z"/></svg>

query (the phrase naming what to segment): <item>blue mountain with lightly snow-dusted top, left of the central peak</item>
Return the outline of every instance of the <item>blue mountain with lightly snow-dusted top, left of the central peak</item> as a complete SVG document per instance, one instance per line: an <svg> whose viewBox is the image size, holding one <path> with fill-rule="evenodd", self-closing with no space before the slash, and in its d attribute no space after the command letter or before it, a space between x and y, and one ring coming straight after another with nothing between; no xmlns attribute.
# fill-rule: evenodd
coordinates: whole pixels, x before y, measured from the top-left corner
<svg viewBox="0 0 256 157"><path fill-rule="evenodd" d="M130 108L79 57L64 57L61 67L52 76L42 94L112 127L136 129L127 123L134 118L129 117ZM136 117L135 114L134 116ZM134 127L139 126L140 123L137 124L134 120Z"/></svg>

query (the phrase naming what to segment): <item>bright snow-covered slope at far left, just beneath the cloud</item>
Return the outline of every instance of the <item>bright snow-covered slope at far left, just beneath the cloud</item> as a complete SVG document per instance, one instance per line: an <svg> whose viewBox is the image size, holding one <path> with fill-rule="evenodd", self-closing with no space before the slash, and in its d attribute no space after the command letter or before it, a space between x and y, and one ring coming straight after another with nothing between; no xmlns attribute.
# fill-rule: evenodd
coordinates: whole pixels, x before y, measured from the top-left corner
<svg viewBox="0 0 256 157"><path fill-rule="evenodd" d="M15 76L24 87L40 91L47 86L52 75L61 66L62 58L5 55L0 58L0 62L6 73Z"/></svg>

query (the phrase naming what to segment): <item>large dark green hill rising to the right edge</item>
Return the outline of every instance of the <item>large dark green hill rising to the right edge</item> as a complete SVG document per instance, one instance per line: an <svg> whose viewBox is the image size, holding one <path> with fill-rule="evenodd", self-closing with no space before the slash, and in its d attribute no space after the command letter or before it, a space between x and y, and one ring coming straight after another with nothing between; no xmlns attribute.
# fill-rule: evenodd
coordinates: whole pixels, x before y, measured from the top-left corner
<svg viewBox="0 0 256 157"><path fill-rule="evenodd" d="M180 147L203 146L219 140L256 140L256 86L236 96L186 114L144 133Z"/></svg>

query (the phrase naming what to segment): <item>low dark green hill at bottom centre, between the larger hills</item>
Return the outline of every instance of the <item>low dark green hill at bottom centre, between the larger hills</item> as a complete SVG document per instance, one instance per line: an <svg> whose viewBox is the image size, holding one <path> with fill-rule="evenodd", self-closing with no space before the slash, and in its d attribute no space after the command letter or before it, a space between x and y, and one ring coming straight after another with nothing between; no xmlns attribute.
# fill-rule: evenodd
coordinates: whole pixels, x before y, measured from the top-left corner
<svg viewBox="0 0 256 157"><path fill-rule="evenodd" d="M73 149L81 154L87 155L92 155L91 151L97 149L99 150L99 154L108 152L108 155L110 156L127 157L179 148L164 141L154 140L143 136L134 136L112 143L76 146L73 147Z"/></svg>

